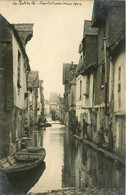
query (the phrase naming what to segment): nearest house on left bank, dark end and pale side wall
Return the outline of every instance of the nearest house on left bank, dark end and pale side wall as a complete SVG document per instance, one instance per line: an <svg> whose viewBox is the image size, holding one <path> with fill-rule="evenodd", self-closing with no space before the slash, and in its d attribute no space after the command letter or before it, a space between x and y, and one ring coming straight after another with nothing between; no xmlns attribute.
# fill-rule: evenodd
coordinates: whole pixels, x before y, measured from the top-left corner
<svg viewBox="0 0 126 195"><path fill-rule="evenodd" d="M2 158L20 148L20 139L24 135L27 113L26 81L30 71L25 46L32 37L33 24L11 25L0 15L0 26L0 158Z"/></svg>

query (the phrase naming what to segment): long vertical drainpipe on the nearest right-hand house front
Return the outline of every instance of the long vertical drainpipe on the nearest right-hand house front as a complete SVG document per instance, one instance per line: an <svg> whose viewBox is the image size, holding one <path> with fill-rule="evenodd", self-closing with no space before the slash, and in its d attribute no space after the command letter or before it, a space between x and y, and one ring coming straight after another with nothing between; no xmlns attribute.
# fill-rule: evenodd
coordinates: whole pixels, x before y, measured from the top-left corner
<svg viewBox="0 0 126 195"><path fill-rule="evenodd" d="M104 59L105 59L105 115L109 116L107 112L107 92L108 92L108 67L107 67L107 52L106 52L106 38L104 38Z"/></svg>

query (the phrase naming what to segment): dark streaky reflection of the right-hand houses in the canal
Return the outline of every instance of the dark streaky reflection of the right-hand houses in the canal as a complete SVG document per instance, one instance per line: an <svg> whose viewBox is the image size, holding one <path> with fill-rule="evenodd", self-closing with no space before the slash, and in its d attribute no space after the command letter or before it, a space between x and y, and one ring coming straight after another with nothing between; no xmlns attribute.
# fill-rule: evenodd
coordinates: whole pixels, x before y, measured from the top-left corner
<svg viewBox="0 0 126 195"><path fill-rule="evenodd" d="M69 137L69 136L68 136ZM63 187L92 187L124 194L124 166L74 139L65 139ZM70 158L70 159L69 159Z"/></svg>

